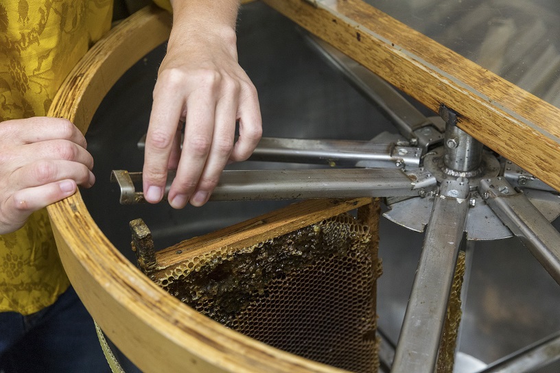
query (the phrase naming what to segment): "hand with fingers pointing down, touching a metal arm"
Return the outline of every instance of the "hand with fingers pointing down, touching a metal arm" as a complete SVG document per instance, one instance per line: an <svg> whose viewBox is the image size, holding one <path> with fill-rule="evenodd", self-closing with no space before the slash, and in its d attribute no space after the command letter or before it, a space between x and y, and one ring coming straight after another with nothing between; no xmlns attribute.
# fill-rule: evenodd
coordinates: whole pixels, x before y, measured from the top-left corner
<svg viewBox="0 0 560 373"><path fill-rule="evenodd" d="M246 160L262 130L257 91L237 63L235 29L216 27L212 19L188 25L178 23L176 14L174 19L154 88L143 190L145 200L159 202L167 170L176 169L168 198L172 207L183 208L187 202L205 204L222 169Z"/></svg>

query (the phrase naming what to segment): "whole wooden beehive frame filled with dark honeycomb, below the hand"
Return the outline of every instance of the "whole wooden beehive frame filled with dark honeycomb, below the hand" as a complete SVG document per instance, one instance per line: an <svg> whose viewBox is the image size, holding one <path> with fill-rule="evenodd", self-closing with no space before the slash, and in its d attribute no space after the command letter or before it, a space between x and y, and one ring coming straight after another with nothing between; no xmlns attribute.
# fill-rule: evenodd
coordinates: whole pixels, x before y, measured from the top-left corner
<svg viewBox="0 0 560 373"><path fill-rule="evenodd" d="M157 252L142 219L130 228L142 272L196 311L307 359L377 372L379 219L371 198L303 200Z"/></svg>

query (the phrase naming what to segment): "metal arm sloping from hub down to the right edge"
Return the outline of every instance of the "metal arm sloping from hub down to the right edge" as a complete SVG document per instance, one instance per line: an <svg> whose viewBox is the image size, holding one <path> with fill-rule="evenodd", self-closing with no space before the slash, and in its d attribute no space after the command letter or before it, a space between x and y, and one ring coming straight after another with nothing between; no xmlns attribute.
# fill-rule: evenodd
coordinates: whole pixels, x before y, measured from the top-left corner
<svg viewBox="0 0 560 373"><path fill-rule="evenodd" d="M505 178L480 181L480 195L560 285L560 232Z"/></svg>

